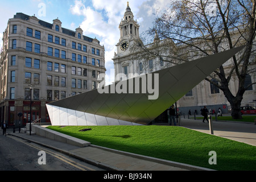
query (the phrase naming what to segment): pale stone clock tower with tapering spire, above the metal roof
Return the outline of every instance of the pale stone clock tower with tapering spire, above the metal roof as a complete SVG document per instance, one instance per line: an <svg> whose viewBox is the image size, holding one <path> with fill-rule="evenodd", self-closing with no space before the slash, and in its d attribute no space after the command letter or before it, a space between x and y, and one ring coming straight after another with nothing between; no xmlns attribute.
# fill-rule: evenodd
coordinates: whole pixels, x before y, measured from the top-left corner
<svg viewBox="0 0 256 182"><path fill-rule="evenodd" d="M120 30L120 38L119 42L115 45L117 46L117 52L115 52L113 61L114 61L114 69L115 76L118 73L124 73L128 75L129 73L133 73L133 69L131 69L131 61L129 59L130 55L130 47L133 45L135 39L139 39L139 24L137 20L134 20L133 12L129 7L129 2L127 2L127 7L125 11L125 15L119 24ZM115 81L119 81L117 77L115 77ZM128 77L127 77L128 78Z"/></svg>

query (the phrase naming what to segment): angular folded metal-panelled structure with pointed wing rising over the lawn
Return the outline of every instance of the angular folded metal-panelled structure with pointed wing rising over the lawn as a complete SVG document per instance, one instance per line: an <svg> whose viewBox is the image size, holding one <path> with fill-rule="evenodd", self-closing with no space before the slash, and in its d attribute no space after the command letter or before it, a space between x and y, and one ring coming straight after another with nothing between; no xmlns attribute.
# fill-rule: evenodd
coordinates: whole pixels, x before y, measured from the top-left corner
<svg viewBox="0 0 256 182"><path fill-rule="evenodd" d="M92 120L94 121L92 125L109 125L111 119L113 119L112 124L118 123L114 121L126 121L148 125L148 123L158 117L159 114L163 113L164 110L183 97L184 94L194 88L242 48L233 48L228 51L105 86L104 90L109 90L109 93L102 93L102 89L95 89L64 98L63 100L51 102L47 104L47 109L51 113L49 115L52 125L63 125L63 123L66 125L67 123L68 125L82 125L82 123L88 125ZM151 76L152 81L148 80ZM138 78L141 78L142 81L138 82ZM157 79L154 80L154 78ZM126 84L127 89L124 89ZM147 88L146 92L142 92L143 85ZM154 93L148 89L150 86L155 90ZM117 89L120 90L120 88L123 89L122 93L117 92ZM135 93L135 90L138 88L141 92ZM153 95L158 96L156 97L157 99L150 99ZM53 118L56 119L59 116L53 117L51 109L57 113L60 113L57 110L62 110L63 112L73 110L71 113L75 113L75 116L72 118L72 123L66 121L65 118L61 119L63 121L62 123L60 120L57 122L54 121ZM74 119L82 113L85 113L86 122L76 122ZM102 122L102 119L104 122Z"/></svg>

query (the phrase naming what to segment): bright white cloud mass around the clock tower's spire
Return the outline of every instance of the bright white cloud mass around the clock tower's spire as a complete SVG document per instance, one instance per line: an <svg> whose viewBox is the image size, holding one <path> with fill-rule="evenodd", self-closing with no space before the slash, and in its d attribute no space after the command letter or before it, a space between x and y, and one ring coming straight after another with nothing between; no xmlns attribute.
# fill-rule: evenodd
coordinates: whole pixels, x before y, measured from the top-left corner
<svg viewBox="0 0 256 182"><path fill-rule="evenodd" d="M151 0L152 1L152 0ZM144 22L143 16L137 16L140 11L142 14L152 11L149 9L141 11L141 5L150 7L148 0L137 1L130 0L129 6L134 14L135 19L141 24ZM158 0L161 4L163 0ZM153 1L154 2L154 1ZM110 74L110 70L114 68L113 60L114 52L116 52L115 44L119 41L119 23L127 7L127 0L92 0L92 7L85 6L85 1L75 0L75 5L70 7L73 15L84 16L80 27L84 31L84 35L94 35L100 40L101 45L105 47L105 67L106 74ZM152 22L152 21L151 21ZM92 37L94 38L94 37ZM109 78L113 76L108 75Z"/></svg>

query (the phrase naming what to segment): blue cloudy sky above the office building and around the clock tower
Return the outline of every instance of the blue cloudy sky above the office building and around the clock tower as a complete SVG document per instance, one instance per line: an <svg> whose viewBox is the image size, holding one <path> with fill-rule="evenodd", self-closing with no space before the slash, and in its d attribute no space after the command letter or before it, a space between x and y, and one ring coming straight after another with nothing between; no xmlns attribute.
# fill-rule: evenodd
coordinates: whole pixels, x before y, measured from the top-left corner
<svg viewBox="0 0 256 182"><path fill-rule="evenodd" d="M152 26L156 11L164 10L172 0L128 1L134 19L140 25L139 32L143 34ZM112 58L117 51L118 26L125 14L127 0L0 0L0 5L0 47L7 22L16 13L35 14L48 23L59 18L62 27L75 31L80 26L85 36L100 40L101 46L105 47L106 82L114 81Z"/></svg>

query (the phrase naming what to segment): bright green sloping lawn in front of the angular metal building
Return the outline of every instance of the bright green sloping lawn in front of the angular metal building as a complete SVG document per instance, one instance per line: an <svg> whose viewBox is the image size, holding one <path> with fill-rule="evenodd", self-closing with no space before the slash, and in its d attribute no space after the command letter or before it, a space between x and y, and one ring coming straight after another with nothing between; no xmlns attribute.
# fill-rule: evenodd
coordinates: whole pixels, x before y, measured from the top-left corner
<svg viewBox="0 0 256 182"><path fill-rule="evenodd" d="M48 126L97 146L216 170L256 170L256 146L178 126ZM92 129L79 131L81 129ZM208 163L210 151L217 164Z"/></svg>

